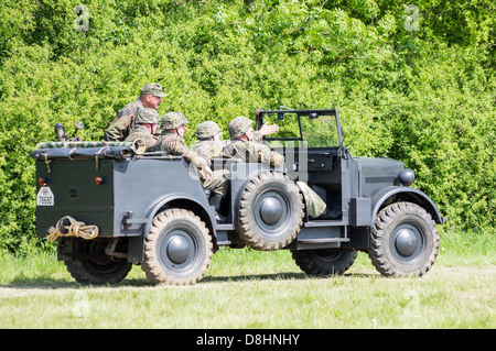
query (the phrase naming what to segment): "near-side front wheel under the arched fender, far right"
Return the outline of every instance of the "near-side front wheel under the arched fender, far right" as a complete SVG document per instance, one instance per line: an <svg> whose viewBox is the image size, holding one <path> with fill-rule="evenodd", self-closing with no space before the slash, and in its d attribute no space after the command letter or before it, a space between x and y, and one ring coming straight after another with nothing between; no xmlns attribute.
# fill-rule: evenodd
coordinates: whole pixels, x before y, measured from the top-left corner
<svg viewBox="0 0 496 351"><path fill-rule="evenodd" d="M380 274L422 276L434 264L438 252L438 228L420 206L396 202L377 215L368 256Z"/></svg>

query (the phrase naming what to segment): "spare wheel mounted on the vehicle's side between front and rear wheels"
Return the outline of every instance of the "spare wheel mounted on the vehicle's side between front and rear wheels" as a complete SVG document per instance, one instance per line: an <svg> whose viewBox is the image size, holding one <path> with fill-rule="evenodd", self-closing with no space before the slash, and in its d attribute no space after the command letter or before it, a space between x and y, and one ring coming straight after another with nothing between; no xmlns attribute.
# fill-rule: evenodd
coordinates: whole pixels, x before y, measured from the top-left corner
<svg viewBox="0 0 496 351"><path fill-rule="evenodd" d="M236 232L252 249L279 250L300 232L303 209L303 196L293 179L280 172L259 174L242 191Z"/></svg>

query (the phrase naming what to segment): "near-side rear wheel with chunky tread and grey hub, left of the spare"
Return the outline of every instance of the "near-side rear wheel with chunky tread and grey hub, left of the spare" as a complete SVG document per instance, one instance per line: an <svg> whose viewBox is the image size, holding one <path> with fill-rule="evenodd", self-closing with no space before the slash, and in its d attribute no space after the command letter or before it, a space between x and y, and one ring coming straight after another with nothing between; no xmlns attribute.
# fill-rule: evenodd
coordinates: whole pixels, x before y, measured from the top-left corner
<svg viewBox="0 0 496 351"><path fill-rule="evenodd" d="M155 284L192 285L206 274L212 254L205 223L192 211L173 208L153 218L141 267Z"/></svg>

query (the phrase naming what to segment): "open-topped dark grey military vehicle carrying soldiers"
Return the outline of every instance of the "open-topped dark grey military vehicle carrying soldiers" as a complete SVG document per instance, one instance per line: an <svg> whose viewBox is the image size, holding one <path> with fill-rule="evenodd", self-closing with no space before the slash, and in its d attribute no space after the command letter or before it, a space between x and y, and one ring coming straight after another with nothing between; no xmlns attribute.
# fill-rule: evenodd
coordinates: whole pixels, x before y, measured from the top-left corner
<svg viewBox="0 0 496 351"><path fill-rule="evenodd" d="M290 250L303 272L316 275L344 274L357 251L386 276L421 276L432 267L435 226L444 218L410 187L411 169L387 157L352 156L336 109L258 110L256 128L267 121L280 131L263 142L285 163L214 158L213 168L231 178L223 222L181 156L136 143L40 143L32 153L36 233L57 240L58 260L87 284L119 283L132 264L157 284L195 284L220 246ZM326 202L332 219L309 217L295 180Z"/></svg>

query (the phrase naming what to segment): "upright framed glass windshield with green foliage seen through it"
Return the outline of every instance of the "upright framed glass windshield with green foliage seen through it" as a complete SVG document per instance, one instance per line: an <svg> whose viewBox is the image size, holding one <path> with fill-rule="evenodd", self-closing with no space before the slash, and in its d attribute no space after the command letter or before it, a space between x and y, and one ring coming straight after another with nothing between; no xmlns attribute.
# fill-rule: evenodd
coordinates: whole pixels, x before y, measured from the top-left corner
<svg viewBox="0 0 496 351"><path fill-rule="evenodd" d="M263 122L279 125L279 131L276 134L266 138L270 147L285 146L288 143L299 146L301 138L303 138L306 147L341 146L334 116L319 114L316 118L300 116L299 122L296 113L287 112L282 120L278 119L277 113L268 113L265 114Z"/></svg>

